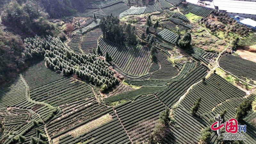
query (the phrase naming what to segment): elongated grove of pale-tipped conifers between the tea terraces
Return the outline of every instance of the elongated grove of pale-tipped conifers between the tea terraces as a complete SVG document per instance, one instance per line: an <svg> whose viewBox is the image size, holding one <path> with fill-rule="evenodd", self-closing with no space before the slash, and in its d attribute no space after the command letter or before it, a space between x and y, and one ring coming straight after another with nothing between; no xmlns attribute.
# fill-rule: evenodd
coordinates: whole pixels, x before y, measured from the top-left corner
<svg viewBox="0 0 256 144"><path fill-rule="evenodd" d="M97 58L96 55L76 54L70 51L59 38L53 38L52 36L47 36L46 39L37 37L34 40L38 41L33 43L34 45L38 45L38 47L31 50L31 52L38 50L38 53L42 52L39 55L42 55L45 51L44 59L49 68L55 71L61 71L67 76L78 76L83 80L99 86L102 91L118 83L116 77L113 76L114 72L108 69L107 63ZM44 40L46 41L45 43L40 42ZM44 48L43 51L41 51L41 45ZM32 46L32 48L34 47ZM111 59L110 56L109 59Z"/></svg>

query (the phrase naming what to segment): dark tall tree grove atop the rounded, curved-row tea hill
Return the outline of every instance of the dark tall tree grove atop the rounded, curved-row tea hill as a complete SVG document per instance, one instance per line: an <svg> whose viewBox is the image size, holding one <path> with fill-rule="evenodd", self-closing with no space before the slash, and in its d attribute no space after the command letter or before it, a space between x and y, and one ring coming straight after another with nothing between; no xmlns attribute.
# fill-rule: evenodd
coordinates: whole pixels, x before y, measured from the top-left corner
<svg viewBox="0 0 256 144"><path fill-rule="evenodd" d="M112 14L100 20L100 28L105 39L128 46L137 44L135 27L130 23L120 24L119 19Z"/></svg>

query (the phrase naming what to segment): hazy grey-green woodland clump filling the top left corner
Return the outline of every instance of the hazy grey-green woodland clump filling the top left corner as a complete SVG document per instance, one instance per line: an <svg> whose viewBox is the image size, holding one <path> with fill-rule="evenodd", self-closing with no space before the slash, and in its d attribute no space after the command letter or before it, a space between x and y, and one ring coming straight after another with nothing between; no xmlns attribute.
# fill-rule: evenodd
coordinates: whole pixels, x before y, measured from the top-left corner
<svg viewBox="0 0 256 144"><path fill-rule="evenodd" d="M1 18L4 25L21 36L60 34L60 30L47 20L49 15L40 7L38 1L12 0L5 4Z"/></svg>

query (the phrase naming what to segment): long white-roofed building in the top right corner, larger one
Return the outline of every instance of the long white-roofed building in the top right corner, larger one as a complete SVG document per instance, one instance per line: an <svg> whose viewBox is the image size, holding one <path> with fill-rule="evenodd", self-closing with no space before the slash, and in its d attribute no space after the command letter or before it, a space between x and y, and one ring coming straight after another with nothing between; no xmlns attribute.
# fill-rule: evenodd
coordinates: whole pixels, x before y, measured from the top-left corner
<svg viewBox="0 0 256 144"><path fill-rule="evenodd" d="M213 4L219 12L256 18L256 0L213 0Z"/></svg>

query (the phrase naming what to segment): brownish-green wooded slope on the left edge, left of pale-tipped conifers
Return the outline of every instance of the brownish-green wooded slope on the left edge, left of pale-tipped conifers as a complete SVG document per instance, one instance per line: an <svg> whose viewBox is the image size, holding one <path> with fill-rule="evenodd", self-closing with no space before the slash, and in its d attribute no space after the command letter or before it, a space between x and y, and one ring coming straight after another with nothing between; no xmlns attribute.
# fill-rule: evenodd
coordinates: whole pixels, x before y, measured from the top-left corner
<svg viewBox="0 0 256 144"><path fill-rule="evenodd" d="M24 68L25 45L20 36L0 30L0 87Z"/></svg>

